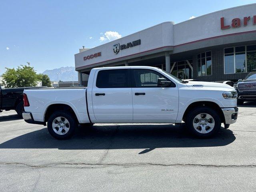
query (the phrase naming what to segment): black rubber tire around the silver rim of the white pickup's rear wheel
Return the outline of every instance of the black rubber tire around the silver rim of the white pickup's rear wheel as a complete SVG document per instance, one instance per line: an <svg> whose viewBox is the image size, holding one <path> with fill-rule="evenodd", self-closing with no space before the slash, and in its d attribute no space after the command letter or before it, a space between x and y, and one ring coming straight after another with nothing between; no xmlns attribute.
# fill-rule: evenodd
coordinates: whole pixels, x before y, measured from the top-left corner
<svg viewBox="0 0 256 192"><path fill-rule="evenodd" d="M65 130L63 132L61 132L61 134L57 134L55 131L58 130L58 127L53 128L52 124L54 123L54 120L56 120L56 118L58 117L63 117L62 121L66 118L66 120L68 120L68 124L65 124L65 128L68 127L68 131L66 132ZM58 123L58 121L55 121L56 123ZM74 117L70 112L67 111L56 111L54 112L48 119L47 122L47 128L49 133L51 134L52 137L58 139L58 140L64 140L64 139L69 139L71 138L76 130L76 127L78 126L78 123L76 121L76 117Z"/></svg>

